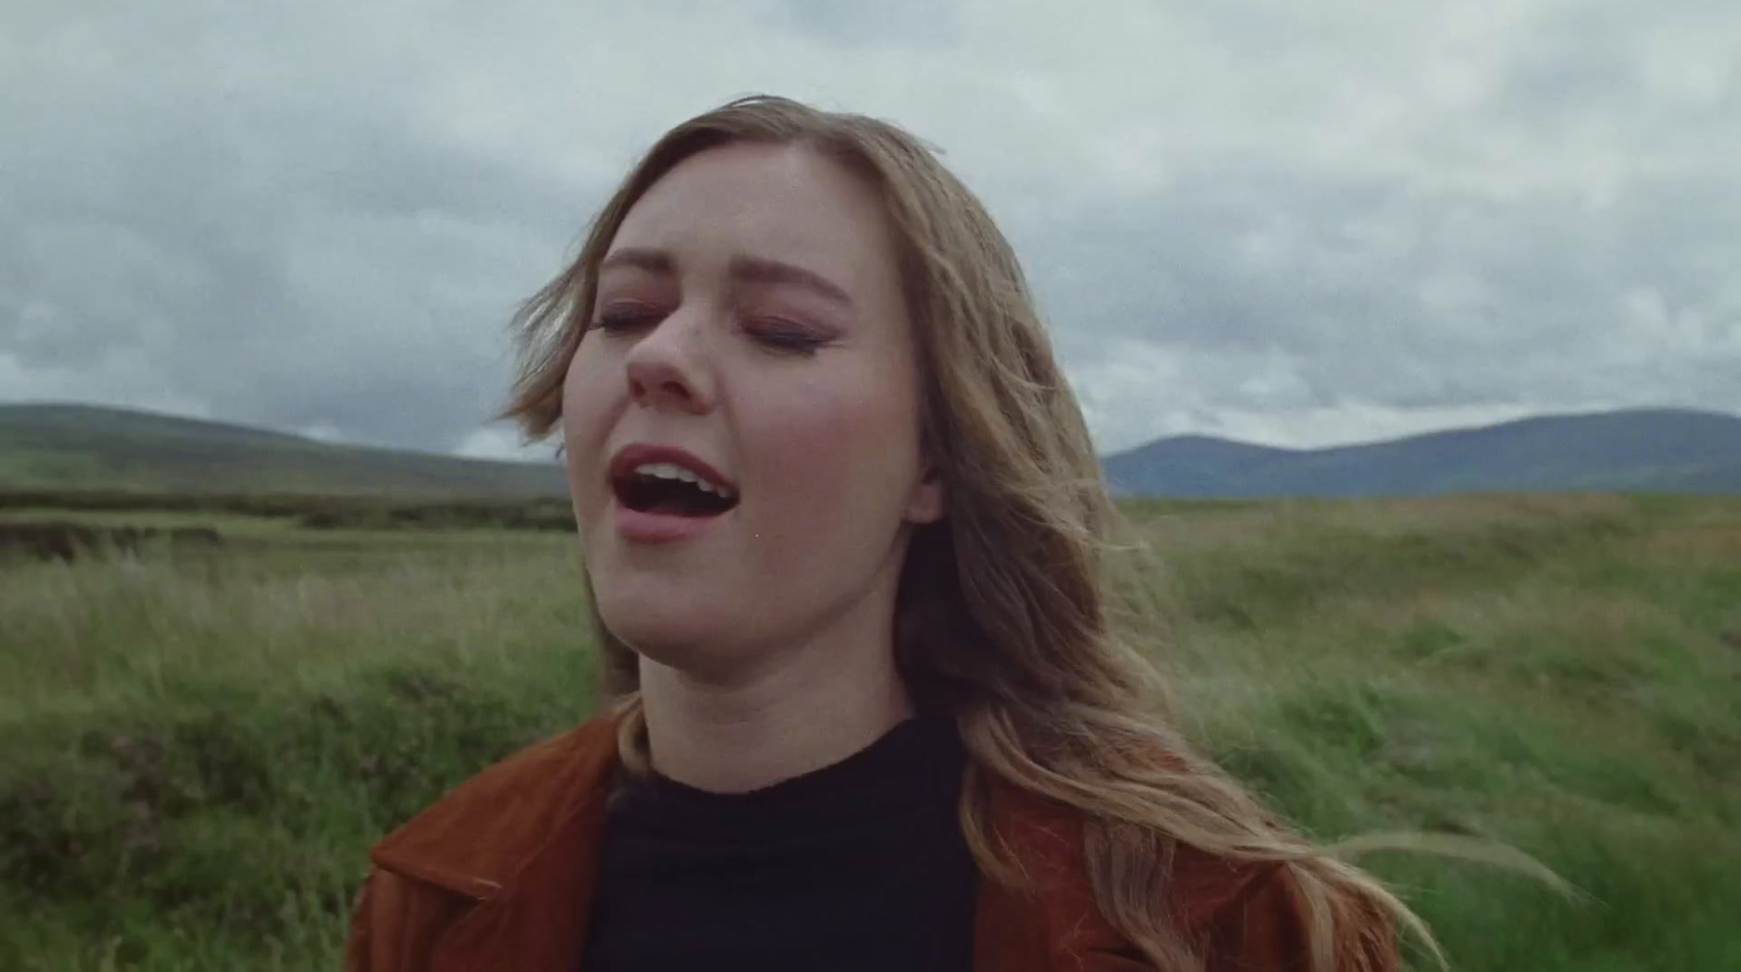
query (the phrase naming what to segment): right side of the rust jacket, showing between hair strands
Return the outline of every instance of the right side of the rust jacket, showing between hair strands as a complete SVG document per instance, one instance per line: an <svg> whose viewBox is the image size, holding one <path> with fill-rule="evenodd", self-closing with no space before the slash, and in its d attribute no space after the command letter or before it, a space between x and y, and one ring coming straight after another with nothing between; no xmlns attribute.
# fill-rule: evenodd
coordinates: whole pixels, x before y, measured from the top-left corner
<svg viewBox="0 0 1741 972"><path fill-rule="evenodd" d="M1012 899L1003 906L1010 913L1006 920L1032 927L1031 934L1045 941L1055 969L1147 969L1095 901L1085 815L1010 784L992 784L991 807L994 840L1020 864L1024 876L1024 888L996 892ZM1307 906L1287 866L1233 861L1179 845L1166 887L1168 918L1208 972L1309 969ZM1377 916L1367 918L1370 925L1351 928L1361 939L1388 930ZM1370 962L1353 967L1395 969Z"/></svg>

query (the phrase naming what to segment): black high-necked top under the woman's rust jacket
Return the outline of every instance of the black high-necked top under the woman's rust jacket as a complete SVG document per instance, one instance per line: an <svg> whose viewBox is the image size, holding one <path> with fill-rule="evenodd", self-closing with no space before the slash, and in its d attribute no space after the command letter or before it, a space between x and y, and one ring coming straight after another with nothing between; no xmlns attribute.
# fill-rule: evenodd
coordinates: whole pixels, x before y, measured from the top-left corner
<svg viewBox="0 0 1741 972"><path fill-rule="evenodd" d="M966 972L963 766L954 726L918 718L754 793L622 779L583 972Z"/></svg>

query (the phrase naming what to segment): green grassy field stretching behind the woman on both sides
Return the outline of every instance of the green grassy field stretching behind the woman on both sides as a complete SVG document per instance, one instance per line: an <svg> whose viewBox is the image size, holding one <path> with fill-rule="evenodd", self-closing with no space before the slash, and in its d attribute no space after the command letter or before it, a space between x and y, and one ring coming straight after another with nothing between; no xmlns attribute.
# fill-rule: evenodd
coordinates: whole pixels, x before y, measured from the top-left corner
<svg viewBox="0 0 1741 972"><path fill-rule="evenodd" d="M1457 969L1741 969L1741 500L1130 512L1227 766L1579 888L1367 861ZM68 516L225 542L0 566L0 969L333 969L366 847L592 707L561 533Z"/></svg>

